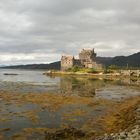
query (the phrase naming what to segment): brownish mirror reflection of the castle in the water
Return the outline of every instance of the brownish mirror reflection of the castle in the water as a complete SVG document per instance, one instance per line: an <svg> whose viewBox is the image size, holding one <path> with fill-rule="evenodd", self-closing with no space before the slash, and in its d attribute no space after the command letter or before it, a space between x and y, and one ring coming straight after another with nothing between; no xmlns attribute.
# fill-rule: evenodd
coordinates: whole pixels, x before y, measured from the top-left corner
<svg viewBox="0 0 140 140"><path fill-rule="evenodd" d="M94 97L96 88L101 85L101 81L77 78L63 77L60 80L61 94L63 95L78 95L82 97Z"/></svg>

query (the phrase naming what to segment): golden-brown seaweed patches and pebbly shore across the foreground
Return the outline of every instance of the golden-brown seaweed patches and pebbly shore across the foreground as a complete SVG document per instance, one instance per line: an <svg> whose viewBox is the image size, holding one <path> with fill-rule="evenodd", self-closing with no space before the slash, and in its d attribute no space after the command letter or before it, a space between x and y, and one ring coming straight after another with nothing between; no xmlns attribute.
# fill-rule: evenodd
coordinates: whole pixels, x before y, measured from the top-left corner
<svg viewBox="0 0 140 140"><path fill-rule="evenodd" d="M110 111L106 115L96 120L97 124L102 125L100 131L95 130L94 123L95 120L90 120L91 126L89 124L84 129L79 129L75 126L68 127L63 125L60 129L48 129L47 127L36 127L36 128L26 128L20 133L12 135L13 140L17 139L32 139L34 134L38 134L40 139L42 137L45 140L139 140L140 139L140 96L131 97L117 102L109 102L108 100L93 101L92 98L83 97L65 97L56 94L42 93L42 94L18 94L18 93L0 93L0 100L6 101L6 105L17 105L21 106L27 103L34 103L40 105L41 111L45 109L57 111L61 107L67 104L85 104L95 107L100 103L100 105L111 106ZM48 106L49 105L49 106ZM112 109L113 108L113 109ZM3 110L0 110L1 112ZM78 111L78 112L77 112ZM30 119L33 124L38 122L36 110L21 112L21 113L10 113L12 117L24 117ZM80 115L80 111L76 110L76 113ZM81 112L83 113L83 112ZM2 114L2 113L1 113ZM66 114L67 115L67 114ZM73 115L73 114L72 114ZM76 114L77 115L77 114ZM4 118L5 117L5 118ZM8 116L2 116L3 121L9 121ZM71 114L70 114L71 117ZM93 128L93 129L88 129ZM0 139L2 139L7 131L12 131L10 127L0 130ZM106 134L105 134L106 133ZM3 138L4 139L4 138ZM24 140L25 140L24 139ZM39 139L39 138L38 138Z"/></svg>

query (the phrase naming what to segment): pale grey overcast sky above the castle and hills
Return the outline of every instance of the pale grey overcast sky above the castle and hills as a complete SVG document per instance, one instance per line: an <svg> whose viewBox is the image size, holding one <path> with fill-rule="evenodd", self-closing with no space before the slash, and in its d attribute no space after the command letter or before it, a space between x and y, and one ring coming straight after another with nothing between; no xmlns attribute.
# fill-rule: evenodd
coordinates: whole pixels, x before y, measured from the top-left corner
<svg viewBox="0 0 140 140"><path fill-rule="evenodd" d="M140 0L0 0L0 65L49 63L82 48L140 51Z"/></svg>

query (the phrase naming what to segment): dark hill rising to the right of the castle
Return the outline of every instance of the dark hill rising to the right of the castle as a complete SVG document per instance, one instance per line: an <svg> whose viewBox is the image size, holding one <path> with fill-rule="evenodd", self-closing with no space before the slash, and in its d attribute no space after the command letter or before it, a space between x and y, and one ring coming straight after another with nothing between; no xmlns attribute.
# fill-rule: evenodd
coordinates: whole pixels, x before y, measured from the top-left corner
<svg viewBox="0 0 140 140"><path fill-rule="evenodd" d="M140 67L140 52L129 55L129 56L116 56L113 58L109 57L97 57L97 61L103 63L106 66L117 65L117 66L131 66Z"/></svg>

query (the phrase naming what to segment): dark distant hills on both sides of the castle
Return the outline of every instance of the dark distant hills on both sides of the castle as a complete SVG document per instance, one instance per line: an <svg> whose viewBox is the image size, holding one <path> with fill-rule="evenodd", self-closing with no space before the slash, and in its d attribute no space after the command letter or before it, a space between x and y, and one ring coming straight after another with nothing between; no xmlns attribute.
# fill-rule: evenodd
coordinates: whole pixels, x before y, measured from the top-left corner
<svg viewBox="0 0 140 140"><path fill-rule="evenodd" d="M129 67L140 67L140 52L129 56L116 56L116 57L97 57L98 63L105 66L117 65L117 66L129 66ZM30 65L16 65L6 66L1 68L9 69L54 69L60 70L60 61L50 64L30 64Z"/></svg>

